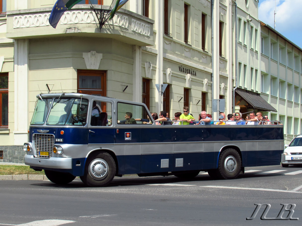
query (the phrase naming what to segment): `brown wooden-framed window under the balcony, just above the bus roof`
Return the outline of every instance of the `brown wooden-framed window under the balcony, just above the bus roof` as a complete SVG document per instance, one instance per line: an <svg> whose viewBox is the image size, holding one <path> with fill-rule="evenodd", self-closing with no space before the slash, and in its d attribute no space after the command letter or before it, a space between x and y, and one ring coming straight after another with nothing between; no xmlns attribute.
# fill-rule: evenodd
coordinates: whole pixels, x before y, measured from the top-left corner
<svg viewBox="0 0 302 226"><path fill-rule="evenodd" d="M78 69L78 93L106 96L106 71Z"/></svg>

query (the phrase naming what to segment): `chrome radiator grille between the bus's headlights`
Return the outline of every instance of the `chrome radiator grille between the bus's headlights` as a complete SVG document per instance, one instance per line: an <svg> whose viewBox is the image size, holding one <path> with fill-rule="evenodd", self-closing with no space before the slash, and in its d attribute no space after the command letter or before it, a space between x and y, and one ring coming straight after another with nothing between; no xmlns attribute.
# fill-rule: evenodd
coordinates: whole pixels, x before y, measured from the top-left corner
<svg viewBox="0 0 302 226"><path fill-rule="evenodd" d="M53 144L55 143L55 136L53 134L39 134L33 135L34 149L36 156L39 158L49 159L53 153ZM41 152L42 153L41 155ZM48 152L48 155L45 155Z"/></svg>

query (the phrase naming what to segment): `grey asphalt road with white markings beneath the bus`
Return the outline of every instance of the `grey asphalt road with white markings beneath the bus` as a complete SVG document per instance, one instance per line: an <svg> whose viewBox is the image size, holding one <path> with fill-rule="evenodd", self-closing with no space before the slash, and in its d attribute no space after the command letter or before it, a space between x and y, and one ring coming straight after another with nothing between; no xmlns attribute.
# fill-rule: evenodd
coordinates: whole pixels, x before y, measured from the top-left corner
<svg viewBox="0 0 302 226"><path fill-rule="evenodd" d="M3 180L0 225L302 224L302 167L262 166L246 171L236 180L211 180L204 172L191 180L125 176L104 188L85 187L77 179L66 186ZM271 218L277 217L281 203L296 204L292 217L299 220L261 220L264 206L253 220L246 220L255 203L270 204L266 217Z"/></svg>

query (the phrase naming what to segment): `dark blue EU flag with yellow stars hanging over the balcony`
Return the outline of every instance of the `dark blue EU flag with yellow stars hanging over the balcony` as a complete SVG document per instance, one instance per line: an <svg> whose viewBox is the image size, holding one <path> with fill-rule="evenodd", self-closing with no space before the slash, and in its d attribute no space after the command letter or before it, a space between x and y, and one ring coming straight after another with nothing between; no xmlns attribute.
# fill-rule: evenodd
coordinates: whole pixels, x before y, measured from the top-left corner
<svg viewBox="0 0 302 226"><path fill-rule="evenodd" d="M50 17L48 19L50 25L53 28L56 28L56 25L59 23L63 13L67 9L71 9L74 5L82 0L58 0L56 4L53 6L53 10L50 13Z"/></svg>

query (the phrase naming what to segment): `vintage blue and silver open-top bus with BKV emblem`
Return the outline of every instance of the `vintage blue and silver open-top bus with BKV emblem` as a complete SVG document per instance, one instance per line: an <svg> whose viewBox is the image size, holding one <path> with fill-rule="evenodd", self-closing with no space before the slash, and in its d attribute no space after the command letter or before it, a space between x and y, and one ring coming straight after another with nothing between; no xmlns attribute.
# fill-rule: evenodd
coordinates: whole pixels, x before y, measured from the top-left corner
<svg viewBox="0 0 302 226"><path fill-rule="evenodd" d="M24 151L53 183L79 176L103 187L125 174L235 179L245 167L279 165L284 137L283 125L156 125L143 103L49 93L37 95Z"/></svg>

